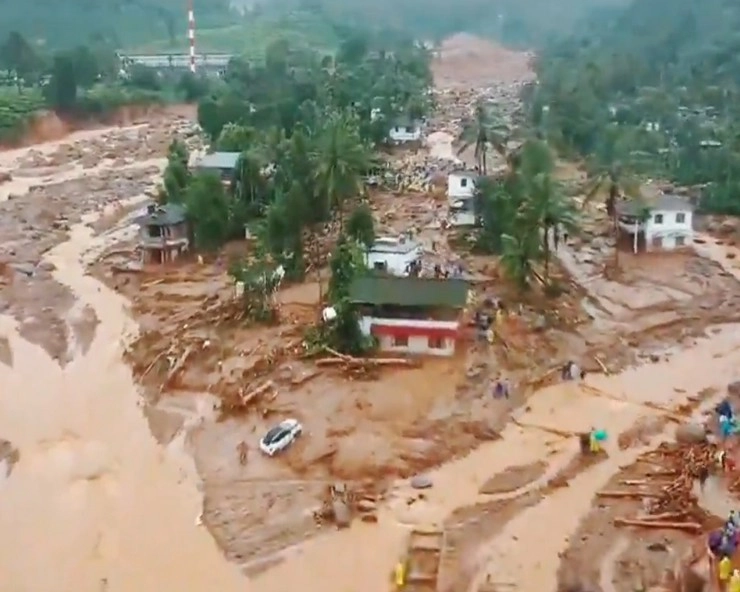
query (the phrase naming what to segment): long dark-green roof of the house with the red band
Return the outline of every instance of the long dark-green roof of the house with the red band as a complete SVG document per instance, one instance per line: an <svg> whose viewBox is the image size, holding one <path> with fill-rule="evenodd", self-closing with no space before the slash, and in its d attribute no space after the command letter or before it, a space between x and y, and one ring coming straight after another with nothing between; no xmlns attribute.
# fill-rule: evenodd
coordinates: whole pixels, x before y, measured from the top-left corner
<svg viewBox="0 0 740 592"><path fill-rule="evenodd" d="M468 299L468 282L397 276L364 276L350 287L355 304L463 308Z"/></svg>

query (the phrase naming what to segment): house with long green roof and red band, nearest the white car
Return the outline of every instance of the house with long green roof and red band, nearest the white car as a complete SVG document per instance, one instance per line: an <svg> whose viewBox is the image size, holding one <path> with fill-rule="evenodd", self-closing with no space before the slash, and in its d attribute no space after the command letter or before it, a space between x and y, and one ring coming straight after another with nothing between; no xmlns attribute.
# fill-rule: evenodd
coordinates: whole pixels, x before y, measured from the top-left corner
<svg viewBox="0 0 740 592"><path fill-rule="evenodd" d="M462 279L366 276L350 287L360 328L385 352L451 356L469 284Z"/></svg>

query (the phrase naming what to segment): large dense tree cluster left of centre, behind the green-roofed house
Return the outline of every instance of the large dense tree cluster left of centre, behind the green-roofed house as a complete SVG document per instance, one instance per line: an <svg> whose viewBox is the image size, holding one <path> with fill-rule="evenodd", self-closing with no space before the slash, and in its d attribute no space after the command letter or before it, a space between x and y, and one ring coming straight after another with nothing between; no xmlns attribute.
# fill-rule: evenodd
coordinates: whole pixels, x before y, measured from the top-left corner
<svg viewBox="0 0 740 592"><path fill-rule="evenodd" d="M429 65L411 41L380 47L351 33L333 55L278 41L262 63L233 60L223 85L200 102L214 147L241 153L234 178L227 189L214 176L191 176L174 144L161 200L185 205L201 249L243 237L245 227L258 237L257 260L232 266L252 316L266 316L269 307L255 302L269 297L278 266L288 279L320 269L327 232L338 233L329 290L338 322L322 339L362 349L346 286L358 245L373 237L364 178L394 120L428 111Z"/></svg>

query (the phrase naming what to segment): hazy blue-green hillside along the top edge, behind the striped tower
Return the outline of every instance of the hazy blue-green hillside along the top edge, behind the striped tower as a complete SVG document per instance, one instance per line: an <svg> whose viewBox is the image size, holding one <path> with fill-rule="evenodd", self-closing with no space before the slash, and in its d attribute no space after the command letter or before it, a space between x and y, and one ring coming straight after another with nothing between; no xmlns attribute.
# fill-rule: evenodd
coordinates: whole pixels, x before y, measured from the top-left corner
<svg viewBox="0 0 740 592"><path fill-rule="evenodd" d="M275 32L321 45L327 25L395 30L441 40L466 31L508 44L540 47L571 33L594 9L624 6L628 0L264 0L248 7L229 0L195 0L202 40L209 51L245 52L252 38ZM239 4L239 3L237 3ZM182 49L187 40L187 0L0 0L0 37L12 31L47 48L69 48L93 39L120 48ZM269 29L269 30L268 30Z"/></svg>

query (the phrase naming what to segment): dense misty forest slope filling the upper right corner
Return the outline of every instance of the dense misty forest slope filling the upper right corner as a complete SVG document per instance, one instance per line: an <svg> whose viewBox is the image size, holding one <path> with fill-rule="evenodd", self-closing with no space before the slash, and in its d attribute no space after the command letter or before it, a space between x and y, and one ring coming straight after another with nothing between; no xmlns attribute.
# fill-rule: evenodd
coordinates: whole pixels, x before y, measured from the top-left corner
<svg viewBox="0 0 740 592"><path fill-rule="evenodd" d="M635 2L592 25L540 57L535 125L612 193L637 173L740 213L740 4Z"/></svg>

